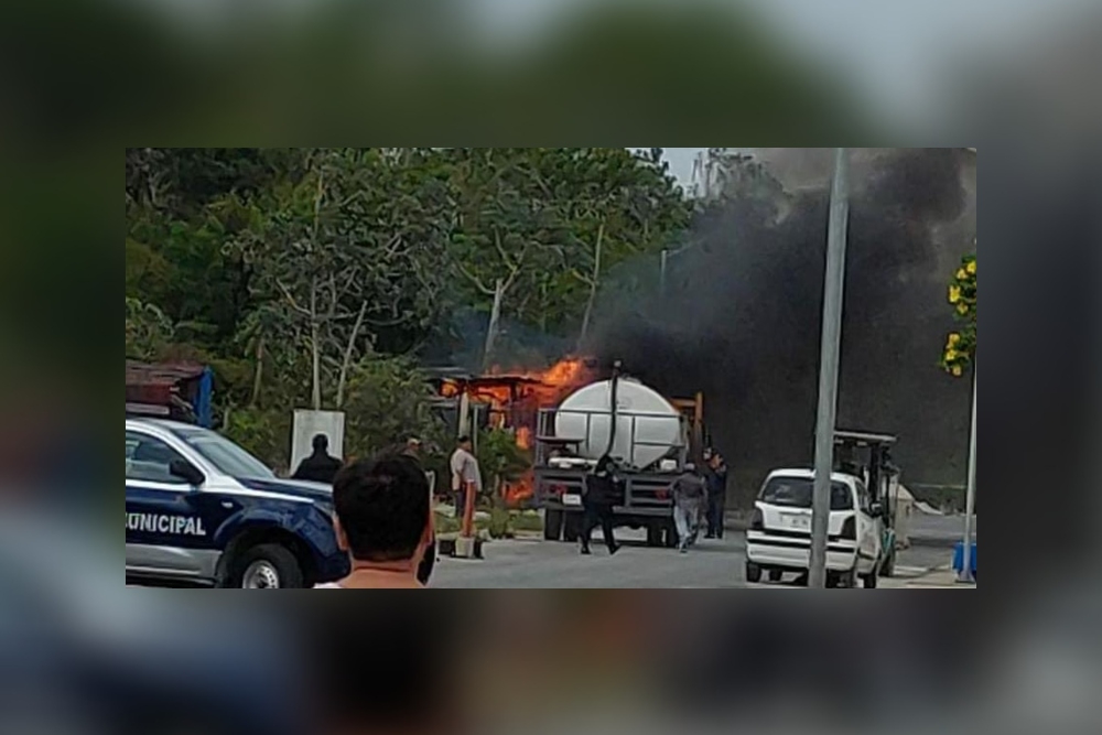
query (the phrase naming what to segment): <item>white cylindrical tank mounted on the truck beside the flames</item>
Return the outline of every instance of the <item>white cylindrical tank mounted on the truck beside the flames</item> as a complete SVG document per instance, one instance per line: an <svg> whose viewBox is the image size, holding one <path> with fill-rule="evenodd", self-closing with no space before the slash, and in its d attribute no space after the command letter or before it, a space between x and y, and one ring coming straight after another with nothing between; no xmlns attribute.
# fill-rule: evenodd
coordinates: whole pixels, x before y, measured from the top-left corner
<svg viewBox="0 0 1102 735"><path fill-rule="evenodd" d="M599 460L608 448L612 388L611 380L588 385L564 400L555 415L555 434L580 441L586 458ZM614 457L641 468L681 446L681 415L658 391L620 378L616 404Z"/></svg>

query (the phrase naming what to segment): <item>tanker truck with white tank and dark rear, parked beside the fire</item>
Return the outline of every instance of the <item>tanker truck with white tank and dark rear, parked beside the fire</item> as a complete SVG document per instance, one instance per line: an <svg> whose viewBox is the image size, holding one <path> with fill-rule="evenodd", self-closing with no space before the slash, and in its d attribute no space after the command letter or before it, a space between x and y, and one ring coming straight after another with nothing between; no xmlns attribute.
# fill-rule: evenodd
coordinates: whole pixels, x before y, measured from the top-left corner
<svg viewBox="0 0 1102 735"><path fill-rule="evenodd" d="M704 450L703 397L671 400L619 375L590 383L558 408L542 409L536 432L536 500L548 541L576 542L585 476L605 454L617 461L624 502L616 526L647 530L647 544L674 548L670 488Z"/></svg>

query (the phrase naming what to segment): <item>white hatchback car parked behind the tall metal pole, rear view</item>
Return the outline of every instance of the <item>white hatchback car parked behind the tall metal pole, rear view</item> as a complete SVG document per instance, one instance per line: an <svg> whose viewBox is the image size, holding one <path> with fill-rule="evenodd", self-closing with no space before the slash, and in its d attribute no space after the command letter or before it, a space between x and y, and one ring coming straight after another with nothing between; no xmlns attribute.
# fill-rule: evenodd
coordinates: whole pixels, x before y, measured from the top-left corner
<svg viewBox="0 0 1102 735"><path fill-rule="evenodd" d="M770 582L780 582L786 573L808 574L813 488L810 469L778 469L766 479L746 532L747 582L758 583L764 574ZM883 514L863 480L833 475L829 586L854 587L860 579L866 588L876 587L884 558Z"/></svg>

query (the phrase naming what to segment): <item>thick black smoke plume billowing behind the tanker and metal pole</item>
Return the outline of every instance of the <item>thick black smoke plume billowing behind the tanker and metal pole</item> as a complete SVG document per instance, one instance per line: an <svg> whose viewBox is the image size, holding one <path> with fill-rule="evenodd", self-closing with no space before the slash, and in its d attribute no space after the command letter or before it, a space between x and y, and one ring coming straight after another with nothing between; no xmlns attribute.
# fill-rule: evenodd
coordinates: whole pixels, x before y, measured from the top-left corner
<svg viewBox="0 0 1102 735"><path fill-rule="evenodd" d="M974 205L957 149L862 152L847 257L840 428L898 434L907 484L962 484L968 380L939 366L946 301ZM973 163L974 165L974 163ZM665 295L614 293L593 352L669 396L702 391L745 505L765 474L813 460L829 191L710 206L672 257ZM635 264L657 270L657 263Z"/></svg>

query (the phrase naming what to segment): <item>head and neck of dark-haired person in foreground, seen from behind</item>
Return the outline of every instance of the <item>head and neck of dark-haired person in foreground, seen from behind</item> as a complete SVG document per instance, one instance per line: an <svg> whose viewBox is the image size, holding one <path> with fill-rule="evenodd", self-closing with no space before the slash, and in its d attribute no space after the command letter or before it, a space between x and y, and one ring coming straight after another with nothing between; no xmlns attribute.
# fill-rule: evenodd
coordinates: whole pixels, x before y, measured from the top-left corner
<svg viewBox="0 0 1102 735"><path fill-rule="evenodd" d="M339 586L417 588L418 565L432 543L429 480L412 457L357 462L333 486L337 543L352 556Z"/></svg>

